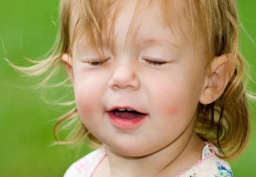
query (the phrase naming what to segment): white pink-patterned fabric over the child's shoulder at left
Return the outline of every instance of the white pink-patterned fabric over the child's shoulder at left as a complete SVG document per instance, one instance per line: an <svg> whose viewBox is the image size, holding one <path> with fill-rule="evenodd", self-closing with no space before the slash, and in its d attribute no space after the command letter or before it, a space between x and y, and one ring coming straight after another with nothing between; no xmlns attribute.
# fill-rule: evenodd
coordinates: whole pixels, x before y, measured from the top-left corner
<svg viewBox="0 0 256 177"><path fill-rule="evenodd" d="M85 173L90 173L93 171L94 166L101 159L102 155L105 154L103 148L98 148L73 162L68 169L65 171L64 177L79 177L84 176Z"/></svg>

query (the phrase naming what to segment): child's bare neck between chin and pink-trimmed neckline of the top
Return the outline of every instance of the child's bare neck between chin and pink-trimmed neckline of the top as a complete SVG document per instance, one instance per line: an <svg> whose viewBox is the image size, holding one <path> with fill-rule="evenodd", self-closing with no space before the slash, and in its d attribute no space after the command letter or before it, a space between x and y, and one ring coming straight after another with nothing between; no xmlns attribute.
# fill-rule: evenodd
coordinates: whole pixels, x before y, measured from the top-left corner
<svg viewBox="0 0 256 177"><path fill-rule="evenodd" d="M202 158L203 141L193 131L193 125L166 147L145 156L129 157L103 144L103 160L112 177L175 176Z"/></svg>

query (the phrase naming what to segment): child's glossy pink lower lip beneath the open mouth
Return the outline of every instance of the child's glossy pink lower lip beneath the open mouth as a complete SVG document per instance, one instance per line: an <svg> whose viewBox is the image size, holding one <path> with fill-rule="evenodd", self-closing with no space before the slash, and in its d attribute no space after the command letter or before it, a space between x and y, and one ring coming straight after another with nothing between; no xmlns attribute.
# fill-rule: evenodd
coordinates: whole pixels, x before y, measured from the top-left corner
<svg viewBox="0 0 256 177"><path fill-rule="evenodd" d="M107 112L108 117L113 123L113 125L117 128L121 129L135 129L138 128L141 124L142 121L147 117L147 114L144 114L141 117L138 118L133 118L133 119L123 119L114 114L113 111Z"/></svg>

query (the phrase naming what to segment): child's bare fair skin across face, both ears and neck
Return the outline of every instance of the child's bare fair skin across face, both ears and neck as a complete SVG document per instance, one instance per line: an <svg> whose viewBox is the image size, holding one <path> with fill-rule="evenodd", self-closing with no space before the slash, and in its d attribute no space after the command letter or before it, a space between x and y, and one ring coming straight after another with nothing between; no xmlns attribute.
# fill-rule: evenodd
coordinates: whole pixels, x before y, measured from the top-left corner
<svg viewBox="0 0 256 177"><path fill-rule="evenodd" d="M137 36L129 43L132 47L125 49L136 1L123 3L111 38L115 43L105 48L111 59L102 66L90 65L88 58L97 55L85 40L77 45L74 58L67 53L62 56L81 120L103 142L107 154L93 176L175 176L202 158L205 144L193 130L197 105L209 104L223 93L230 79L228 73L220 75L227 57L213 58L213 70L206 69L202 43L193 50L190 23L181 13L187 8L183 1L176 13L188 34L186 41L178 30L175 36L167 33L154 2L138 20ZM172 20L177 25L177 18ZM167 63L150 65L145 57ZM109 122L106 110L125 105L148 114L140 127L122 130Z"/></svg>

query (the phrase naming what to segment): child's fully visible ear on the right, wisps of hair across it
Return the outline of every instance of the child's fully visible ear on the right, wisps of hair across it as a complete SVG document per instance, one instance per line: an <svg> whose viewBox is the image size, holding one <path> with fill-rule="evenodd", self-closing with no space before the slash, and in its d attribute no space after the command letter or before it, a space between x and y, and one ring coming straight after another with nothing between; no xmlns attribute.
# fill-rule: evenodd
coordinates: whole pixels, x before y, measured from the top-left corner
<svg viewBox="0 0 256 177"><path fill-rule="evenodd" d="M217 100L224 92L227 83L235 71L235 64L228 65L228 54L216 56L211 62L205 75L204 85L199 98L202 104L210 104Z"/></svg>

